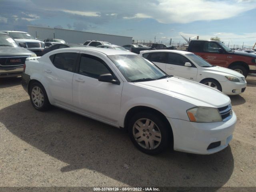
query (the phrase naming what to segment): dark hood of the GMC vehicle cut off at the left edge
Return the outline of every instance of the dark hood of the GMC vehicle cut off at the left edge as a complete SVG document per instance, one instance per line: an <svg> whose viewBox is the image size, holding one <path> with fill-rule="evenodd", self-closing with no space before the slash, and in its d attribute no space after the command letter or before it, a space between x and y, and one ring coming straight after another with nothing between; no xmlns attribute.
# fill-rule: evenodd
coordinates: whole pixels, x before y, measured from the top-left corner
<svg viewBox="0 0 256 192"><path fill-rule="evenodd" d="M29 56L35 53L22 47L0 46L0 57Z"/></svg>

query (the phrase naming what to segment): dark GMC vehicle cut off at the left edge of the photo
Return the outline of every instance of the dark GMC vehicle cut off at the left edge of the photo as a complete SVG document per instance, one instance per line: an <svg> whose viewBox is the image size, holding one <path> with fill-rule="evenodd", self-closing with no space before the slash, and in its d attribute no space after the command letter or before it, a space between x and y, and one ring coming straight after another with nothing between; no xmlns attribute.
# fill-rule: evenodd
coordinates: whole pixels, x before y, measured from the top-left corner
<svg viewBox="0 0 256 192"><path fill-rule="evenodd" d="M0 78L21 75L26 58L31 56L36 54L19 47L8 34L0 32Z"/></svg>

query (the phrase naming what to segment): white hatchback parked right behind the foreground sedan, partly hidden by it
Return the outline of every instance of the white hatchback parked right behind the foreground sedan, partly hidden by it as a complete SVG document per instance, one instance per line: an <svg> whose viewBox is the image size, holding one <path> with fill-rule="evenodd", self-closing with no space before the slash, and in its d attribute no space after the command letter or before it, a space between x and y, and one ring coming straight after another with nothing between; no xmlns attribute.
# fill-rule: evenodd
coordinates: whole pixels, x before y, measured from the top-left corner
<svg viewBox="0 0 256 192"><path fill-rule="evenodd" d="M246 88L245 77L231 69L213 66L194 53L179 50L141 51L140 55L169 75L179 76L236 95Z"/></svg>

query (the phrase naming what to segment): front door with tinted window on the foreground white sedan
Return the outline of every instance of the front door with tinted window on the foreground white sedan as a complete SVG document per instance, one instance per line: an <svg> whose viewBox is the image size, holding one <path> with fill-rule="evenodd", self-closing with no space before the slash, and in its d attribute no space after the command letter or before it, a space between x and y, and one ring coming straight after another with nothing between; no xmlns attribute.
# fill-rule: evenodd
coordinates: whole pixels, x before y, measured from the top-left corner
<svg viewBox="0 0 256 192"><path fill-rule="evenodd" d="M123 82L117 85L98 80L101 74L108 73L118 80L108 62L95 54L81 54L73 78L73 101L76 110L118 124Z"/></svg>

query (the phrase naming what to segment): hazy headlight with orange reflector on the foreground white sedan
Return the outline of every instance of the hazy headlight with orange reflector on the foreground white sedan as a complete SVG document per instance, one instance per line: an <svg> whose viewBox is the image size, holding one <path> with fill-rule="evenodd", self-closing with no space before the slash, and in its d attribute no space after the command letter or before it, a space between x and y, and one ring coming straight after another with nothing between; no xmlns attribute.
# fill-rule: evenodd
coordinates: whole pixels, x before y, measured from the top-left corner
<svg viewBox="0 0 256 192"><path fill-rule="evenodd" d="M220 122L222 117L217 108L210 107L194 107L187 110L188 118L192 122L197 123L210 123Z"/></svg>

